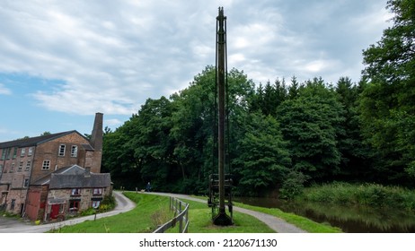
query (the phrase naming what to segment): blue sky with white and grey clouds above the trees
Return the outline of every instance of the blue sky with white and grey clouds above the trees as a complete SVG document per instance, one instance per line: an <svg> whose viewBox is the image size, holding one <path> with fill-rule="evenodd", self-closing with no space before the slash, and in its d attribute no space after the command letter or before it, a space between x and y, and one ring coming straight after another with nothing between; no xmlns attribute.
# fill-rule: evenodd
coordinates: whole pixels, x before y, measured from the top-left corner
<svg viewBox="0 0 415 251"><path fill-rule="evenodd" d="M255 84L292 76L358 82L362 50L391 25L387 0L0 0L0 142L76 130L96 112L115 130L147 99L215 65L227 17L228 68Z"/></svg>

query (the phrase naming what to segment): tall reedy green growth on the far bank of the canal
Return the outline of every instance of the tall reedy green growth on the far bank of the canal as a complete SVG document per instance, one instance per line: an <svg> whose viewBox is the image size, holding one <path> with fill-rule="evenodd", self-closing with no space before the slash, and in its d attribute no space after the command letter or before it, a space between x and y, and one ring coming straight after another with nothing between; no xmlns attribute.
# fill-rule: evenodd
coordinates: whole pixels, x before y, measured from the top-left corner
<svg viewBox="0 0 415 251"><path fill-rule="evenodd" d="M306 188L301 200L340 205L367 205L415 212L415 193L398 186L332 183Z"/></svg>

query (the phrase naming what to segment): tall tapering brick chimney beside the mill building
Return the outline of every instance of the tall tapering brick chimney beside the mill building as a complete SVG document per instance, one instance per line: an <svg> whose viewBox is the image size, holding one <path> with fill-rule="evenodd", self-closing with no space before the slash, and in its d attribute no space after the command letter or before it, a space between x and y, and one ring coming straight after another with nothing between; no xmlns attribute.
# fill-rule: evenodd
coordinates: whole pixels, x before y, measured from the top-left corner
<svg viewBox="0 0 415 251"><path fill-rule="evenodd" d="M102 124L103 114L97 112L95 120L93 121L93 133L91 134L91 145L93 146L93 167L91 171L95 173L101 172L101 158L102 158Z"/></svg>

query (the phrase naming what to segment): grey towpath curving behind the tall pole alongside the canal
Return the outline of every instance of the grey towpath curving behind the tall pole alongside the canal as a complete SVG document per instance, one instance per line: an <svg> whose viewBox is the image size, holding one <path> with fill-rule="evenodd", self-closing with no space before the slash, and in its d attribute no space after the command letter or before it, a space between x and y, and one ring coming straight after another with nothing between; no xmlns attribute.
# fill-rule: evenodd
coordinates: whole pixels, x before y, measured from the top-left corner
<svg viewBox="0 0 415 251"><path fill-rule="evenodd" d="M177 194L168 194L168 193L151 193L154 195L164 195L164 196L172 196L176 198L182 198L187 199L191 201L196 201L200 203L207 203L206 200L198 199L191 197L190 195L177 195ZM263 212L256 212L248 209L244 209L241 207L234 206L235 212L243 212L249 215L252 215L253 217L257 218L258 220L264 222L269 226L270 229L274 229L278 233L305 233L306 231L303 229L299 229L293 224L288 223L287 221L284 221L280 218L277 218L273 215L263 213Z"/></svg>

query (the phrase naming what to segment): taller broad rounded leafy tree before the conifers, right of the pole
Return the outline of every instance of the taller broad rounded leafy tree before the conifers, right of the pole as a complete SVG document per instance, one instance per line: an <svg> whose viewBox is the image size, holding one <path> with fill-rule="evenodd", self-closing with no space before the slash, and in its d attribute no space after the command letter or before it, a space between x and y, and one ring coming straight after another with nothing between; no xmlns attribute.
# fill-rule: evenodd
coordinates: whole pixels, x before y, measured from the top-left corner
<svg viewBox="0 0 415 251"><path fill-rule="evenodd" d="M295 100L278 108L278 122L287 140L293 169L314 180L328 179L339 173L338 149L343 108L334 91L322 79L306 82Z"/></svg>

